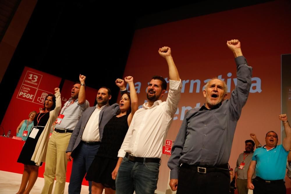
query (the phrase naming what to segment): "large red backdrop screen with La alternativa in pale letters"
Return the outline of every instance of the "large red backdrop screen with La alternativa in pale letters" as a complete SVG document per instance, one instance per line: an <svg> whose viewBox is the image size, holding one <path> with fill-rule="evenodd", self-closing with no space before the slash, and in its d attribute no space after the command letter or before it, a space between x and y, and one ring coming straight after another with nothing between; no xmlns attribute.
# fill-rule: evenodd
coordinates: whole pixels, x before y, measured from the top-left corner
<svg viewBox="0 0 291 194"><path fill-rule="evenodd" d="M244 141L251 139L250 133L255 133L262 145L267 131L281 134L278 119L281 113L281 54L291 53L290 24L290 1L272 1L139 29L134 34L124 76L134 77L139 104L143 104L151 76L168 77L167 63L159 56L158 49L171 47L183 81L179 109L166 138L175 140L185 112L197 103L198 106L204 104L205 80L221 76L230 86L229 92L235 88L236 66L226 41L240 40L242 53L253 67L253 85L233 140L229 164L235 168L239 153L244 151ZM195 84L191 85L191 81ZM197 82L200 82L199 87ZM168 156L163 154L157 188L161 192L166 191L168 182L167 161ZM290 180L286 181L290 187Z"/></svg>

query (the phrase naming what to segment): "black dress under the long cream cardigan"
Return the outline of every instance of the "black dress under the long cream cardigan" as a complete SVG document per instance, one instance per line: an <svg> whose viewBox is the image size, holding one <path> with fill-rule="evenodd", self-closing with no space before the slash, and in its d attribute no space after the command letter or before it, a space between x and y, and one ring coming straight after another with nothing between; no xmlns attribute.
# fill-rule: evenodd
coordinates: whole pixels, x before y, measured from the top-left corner
<svg viewBox="0 0 291 194"><path fill-rule="evenodd" d="M39 119L39 122L37 122L38 119ZM32 157L34 149L36 147L36 143L38 141L38 138L40 137L40 134L42 133L43 129L45 128L45 125L47 124L48 120L49 120L49 112L38 113L36 115L36 117L33 120L33 127L32 128L37 128L37 129L39 129L39 131L36 135L36 138L34 138L34 139L29 137L30 134L27 134L28 137L26 139L26 142L24 143L24 146L22 147L22 150L20 152L20 155L18 157L17 162L36 166L35 162L31 161L31 157ZM42 165L42 163L40 165Z"/></svg>

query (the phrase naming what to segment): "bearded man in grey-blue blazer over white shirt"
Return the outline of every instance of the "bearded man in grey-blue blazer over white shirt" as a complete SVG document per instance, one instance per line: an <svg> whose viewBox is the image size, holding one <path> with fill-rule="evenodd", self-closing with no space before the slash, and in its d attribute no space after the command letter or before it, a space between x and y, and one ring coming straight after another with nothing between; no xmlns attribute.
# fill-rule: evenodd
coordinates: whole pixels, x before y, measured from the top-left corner
<svg viewBox="0 0 291 194"><path fill-rule="evenodd" d="M116 85L120 88L121 93L126 91L124 82ZM77 123L68 148L66 150L67 159L74 159L72 173L69 184L69 194L80 193L82 180L88 171L94 157L100 147L102 140L103 128L107 122L116 115L119 104L109 105L111 91L109 88L102 87L97 93L97 105L87 108ZM92 182L89 181L89 193L91 193Z"/></svg>

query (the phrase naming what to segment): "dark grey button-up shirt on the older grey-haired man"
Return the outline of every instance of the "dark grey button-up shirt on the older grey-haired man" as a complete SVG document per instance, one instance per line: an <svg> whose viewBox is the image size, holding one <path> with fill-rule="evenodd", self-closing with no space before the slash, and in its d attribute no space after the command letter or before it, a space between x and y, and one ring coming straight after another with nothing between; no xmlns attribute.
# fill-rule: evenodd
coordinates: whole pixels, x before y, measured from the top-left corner
<svg viewBox="0 0 291 194"><path fill-rule="evenodd" d="M168 161L170 179L178 179L180 164L215 166L228 163L235 127L251 88L252 67L244 56L235 58L237 84L231 97L208 110L187 112Z"/></svg>

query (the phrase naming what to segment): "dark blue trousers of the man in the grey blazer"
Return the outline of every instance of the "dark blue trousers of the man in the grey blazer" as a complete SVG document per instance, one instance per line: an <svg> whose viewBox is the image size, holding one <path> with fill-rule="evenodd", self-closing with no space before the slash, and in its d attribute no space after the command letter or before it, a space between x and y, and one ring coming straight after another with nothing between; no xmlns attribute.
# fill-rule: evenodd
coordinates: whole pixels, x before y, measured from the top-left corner
<svg viewBox="0 0 291 194"><path fill-rule="evenodd" d="M69 184L69 194L80 194L82 181L93 162L100 145L86 145L80 143L74 153L72 173ZM89 194L91 194L92 181L89 182Z"/></svg>

